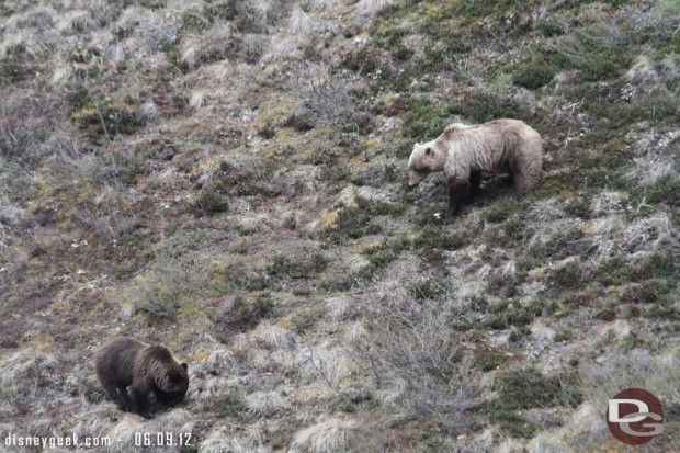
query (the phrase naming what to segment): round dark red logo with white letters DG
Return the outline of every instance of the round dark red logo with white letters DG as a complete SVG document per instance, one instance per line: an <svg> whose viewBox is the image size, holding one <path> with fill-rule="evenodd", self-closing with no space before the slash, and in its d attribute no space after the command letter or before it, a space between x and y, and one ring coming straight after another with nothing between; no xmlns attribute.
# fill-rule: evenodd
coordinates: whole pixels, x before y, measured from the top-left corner
<svg viewBox="0 0 680 453"><path fill-rule="evenodd" d="M628 445L649 442L664 432L664 408L654 394L626 388L609 400L607 426L612 435Z"/></svg>

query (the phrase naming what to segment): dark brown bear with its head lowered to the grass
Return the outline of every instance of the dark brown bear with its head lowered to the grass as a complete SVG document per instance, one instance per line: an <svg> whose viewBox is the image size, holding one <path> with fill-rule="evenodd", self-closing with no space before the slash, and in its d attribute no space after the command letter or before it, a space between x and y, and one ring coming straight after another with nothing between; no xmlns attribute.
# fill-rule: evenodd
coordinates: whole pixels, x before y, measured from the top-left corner
<svg viewBox="0 0 680 453"><path fill-rule="evenodd" d="M186 363L179 363L168 348L129 337L107 341L94 354L94 370L109 398L124 411L151 418L147 396L154 392L165 405L181 401L189 388Z"/></svg>

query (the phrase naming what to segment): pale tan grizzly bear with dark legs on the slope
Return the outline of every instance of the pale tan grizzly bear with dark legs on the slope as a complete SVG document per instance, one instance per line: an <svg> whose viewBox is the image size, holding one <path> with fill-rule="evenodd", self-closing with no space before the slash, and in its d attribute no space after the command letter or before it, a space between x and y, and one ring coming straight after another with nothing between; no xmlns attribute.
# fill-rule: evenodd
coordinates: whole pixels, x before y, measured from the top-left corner
<svg viewBox="0 0 680 453"><path fill-rule="evenodd" d="M518 120L468 126L454 123L432 141L416 144L408 159L409 185L444 170L449 186L446 219L479 190L481 173L511 173L518 196L541 181L543 140Z"/></svg>

